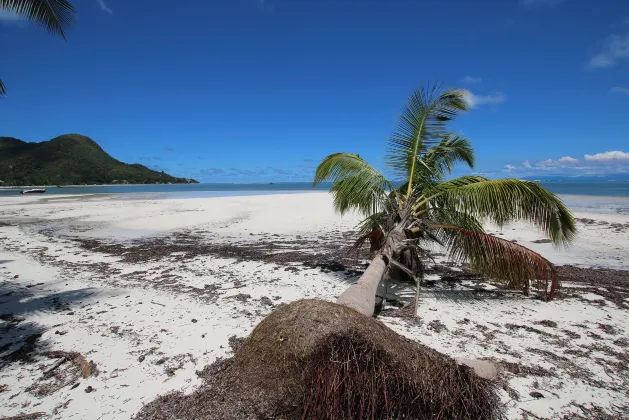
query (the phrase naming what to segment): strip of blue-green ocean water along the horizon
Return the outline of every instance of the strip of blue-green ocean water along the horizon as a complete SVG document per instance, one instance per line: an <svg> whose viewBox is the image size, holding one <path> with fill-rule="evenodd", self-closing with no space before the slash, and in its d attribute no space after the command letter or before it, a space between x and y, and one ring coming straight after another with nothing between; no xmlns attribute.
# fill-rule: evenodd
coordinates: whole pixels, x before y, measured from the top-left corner
<svg viewBox="0 0 629 420"><path fill-rule="evenodd" d="M542 182L542 186L561 196L574 210L629 214L629 181L617 182ZM285 194L326 191L329 183L313 188L309 182L257 184L185 184L185 185L107 185L81 187L46 187L53 194L150 194L155 198L200 198L260 194ZM0 189L0 196L20 197L20 189Z"/></svg>

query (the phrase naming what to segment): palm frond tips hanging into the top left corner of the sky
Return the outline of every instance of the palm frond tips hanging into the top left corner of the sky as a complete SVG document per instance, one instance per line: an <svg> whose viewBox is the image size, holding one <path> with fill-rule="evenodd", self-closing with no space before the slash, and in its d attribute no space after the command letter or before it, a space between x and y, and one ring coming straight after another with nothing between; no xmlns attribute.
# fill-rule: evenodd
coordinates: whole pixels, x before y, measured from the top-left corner
<svg viewBox="0 0 629 420"><path fill-rule="evenodd" d="M74 22L74 7L67 0L0 0L0 11L22 16L63 39ZM0 97L6 93L0 80Z"/></svg>

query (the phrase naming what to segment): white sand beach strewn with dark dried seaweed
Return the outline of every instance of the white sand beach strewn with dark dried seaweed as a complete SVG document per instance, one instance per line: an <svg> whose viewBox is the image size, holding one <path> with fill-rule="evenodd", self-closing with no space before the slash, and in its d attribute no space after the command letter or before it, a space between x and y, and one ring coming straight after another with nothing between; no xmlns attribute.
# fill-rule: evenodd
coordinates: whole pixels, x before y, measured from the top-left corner
<svg viewBox="0 0 629 420"><path fill-rule="evenodd" d="M524 224L489 230L557 265L629 270L629 215L575 217L568 250ZM336 214L319 192L0 197L0 416L130 418L158 395L193 391L196 372L229 355L230 337L246 337L275 306L334 300L358 278L363 261L331 261L359 220ZM391 308L379 319L448 355L502 363L509 418L622 418L629 276L591 284L609 276L565 273L575 281L552 302L428 274L418 320ZM58 364L55 351L93 361L92 374Z"/></svg>

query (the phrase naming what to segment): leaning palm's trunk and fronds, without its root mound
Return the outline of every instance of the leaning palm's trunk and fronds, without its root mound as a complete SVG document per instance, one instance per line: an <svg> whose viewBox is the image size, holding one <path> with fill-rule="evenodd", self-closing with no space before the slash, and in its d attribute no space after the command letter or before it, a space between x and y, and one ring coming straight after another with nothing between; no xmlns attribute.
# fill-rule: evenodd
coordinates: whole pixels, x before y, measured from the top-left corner
<svg viewBox="0 0 629 420"><path fill-rule="evenodd" d="M469 140L447 126L467 110L464 90L435 84L411 95L385 157L397 183L357 154L335 153L319 164L314 185L331 181L335 209L362 213L359 242L371 242L371 264L337 303L371 316L387 269L396 266L418 275L431 242L445 247L451 259L469 262L478 274L511 287L536 281L546 297L554 296L559 281L553 265L530 249L486 233L483 222L529 222L555 245L565 246L576 233L572 215L535 182L481 176L446 180L455 164L474 165Z"/></svg>

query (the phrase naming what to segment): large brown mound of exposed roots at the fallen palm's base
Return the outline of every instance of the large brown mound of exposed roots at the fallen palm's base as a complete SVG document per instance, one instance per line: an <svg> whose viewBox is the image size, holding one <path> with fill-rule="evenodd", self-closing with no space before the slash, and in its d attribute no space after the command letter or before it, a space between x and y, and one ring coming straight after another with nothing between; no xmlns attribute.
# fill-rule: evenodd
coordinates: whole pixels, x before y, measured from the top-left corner
<svg viewBox="0 0 629 420"><path fill-rule="evenodd" d="M142 419L494 419L495 383L379 321L320 300L281 305L191 395Z"/></svg>

